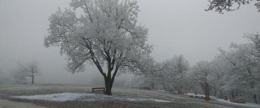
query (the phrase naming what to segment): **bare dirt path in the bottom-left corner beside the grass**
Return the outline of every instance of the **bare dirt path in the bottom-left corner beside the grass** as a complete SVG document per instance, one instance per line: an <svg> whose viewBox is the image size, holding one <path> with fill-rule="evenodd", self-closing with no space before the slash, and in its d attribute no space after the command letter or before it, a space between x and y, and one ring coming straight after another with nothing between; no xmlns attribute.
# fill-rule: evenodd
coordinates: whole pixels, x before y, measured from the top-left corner
<svg viewBox="0 0 260 108"><path fill-rule="evenodd" d="M38 107L32 103L14 102L0 99L0 108L44 108Z"/></svg>

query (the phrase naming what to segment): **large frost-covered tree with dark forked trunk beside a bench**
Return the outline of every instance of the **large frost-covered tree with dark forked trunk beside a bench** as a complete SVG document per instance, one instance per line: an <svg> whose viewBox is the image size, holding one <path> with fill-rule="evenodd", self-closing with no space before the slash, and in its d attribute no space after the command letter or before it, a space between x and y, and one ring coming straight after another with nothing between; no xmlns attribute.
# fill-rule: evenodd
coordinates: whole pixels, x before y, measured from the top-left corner
<svg viewBox="0 0 260 108"><path fill-rule="evenodd" d="M95 65L107 95L118 73L151 72L152 46L148 29L137 24L137 1L72 0L70 7L52 13L44 38L45 47L58 46L66 54L69 72L84 71L85 63Z"/></svg>

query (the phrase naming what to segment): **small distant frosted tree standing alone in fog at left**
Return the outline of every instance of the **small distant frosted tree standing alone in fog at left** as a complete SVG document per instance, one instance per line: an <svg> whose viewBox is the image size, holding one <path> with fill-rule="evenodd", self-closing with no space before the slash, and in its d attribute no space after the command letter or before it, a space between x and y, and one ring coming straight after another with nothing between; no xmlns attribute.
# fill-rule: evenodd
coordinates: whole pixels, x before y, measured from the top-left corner
<svg viewBox="0 0 260 108"><path fill-rule="evenodd" d="M23 79L23 77L31 77L31 84L34 84L34 78L39 76L39 63L37 60L33 60L30 63L19 63L17 70L17 77Z"/></svg>

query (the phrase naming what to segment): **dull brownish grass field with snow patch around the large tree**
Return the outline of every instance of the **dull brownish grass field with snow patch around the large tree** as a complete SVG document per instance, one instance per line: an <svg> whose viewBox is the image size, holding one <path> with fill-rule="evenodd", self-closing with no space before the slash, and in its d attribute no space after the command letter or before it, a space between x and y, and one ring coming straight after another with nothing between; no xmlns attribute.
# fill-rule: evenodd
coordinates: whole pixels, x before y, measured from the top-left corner
<svg viewBox="0 0 260 108"><path fill-rule="evenodd" d="M158 90L113 87L113 96L92 94L93 86L68 84L0 85L1 108L243 108ZM46 95L51 94L51 95ZM55 95L53 95L55 94ZM75 97L73 94L81 96ZM36 95L36 96L35 96ZM20 96L17 97L17 96ZM33 96L37 99L29 99ZM52 98L48 97L52 96ZM60 97L61 96L61 97ZM21 98L24 97L24 98ZM25 98L26 97L26 98ZM63 100L61 100L63 99ZM65 99L65 100L64 100ZM67 100L66 100L67 99ZM20 107L15 107L21 105Z"/></svg>

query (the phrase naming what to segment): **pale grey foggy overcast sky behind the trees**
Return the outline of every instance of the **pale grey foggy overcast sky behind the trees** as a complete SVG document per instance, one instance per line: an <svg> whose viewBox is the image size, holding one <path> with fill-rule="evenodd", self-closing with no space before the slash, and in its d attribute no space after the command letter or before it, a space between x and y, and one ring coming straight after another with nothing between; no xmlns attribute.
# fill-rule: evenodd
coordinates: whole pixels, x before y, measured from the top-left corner
<svg viewBox="0 0 260 108"><path fill-rule="evenodd" d="M59 48L45 48L43 37L48 18L58 7L69 7L70 0L0 0L0 70L14 68L17 61L39 61L42 76L36 83L84 83L99 75L95 66L86 72L68 73L65 56ZM208 0L138 0L138 21L149 28L148 42L154 45L156 60L183 54L191 65L212 60L216 48L244 43L243 33L260 31L260 12L253 4L234 12L206 12ZM93 74L91 74L93 75ZM59 77L57 77L59 76ZM103 79L101 79L103 80Z"/></svg>

